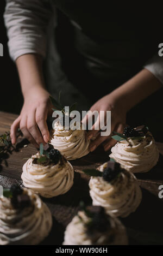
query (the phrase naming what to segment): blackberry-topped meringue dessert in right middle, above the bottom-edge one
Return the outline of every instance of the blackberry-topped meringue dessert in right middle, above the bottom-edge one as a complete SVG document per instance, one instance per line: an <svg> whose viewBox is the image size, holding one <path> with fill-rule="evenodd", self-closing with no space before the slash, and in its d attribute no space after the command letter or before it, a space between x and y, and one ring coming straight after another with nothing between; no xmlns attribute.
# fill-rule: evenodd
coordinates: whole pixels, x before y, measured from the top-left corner
<svg viewBox="0 0 163 256"><path fill-rule="evenodd" d="M94 174L92 170L89 187L92 204L115 217L127 217L141 203L142 193L134 174L116 162L104 163Z"/></svg>

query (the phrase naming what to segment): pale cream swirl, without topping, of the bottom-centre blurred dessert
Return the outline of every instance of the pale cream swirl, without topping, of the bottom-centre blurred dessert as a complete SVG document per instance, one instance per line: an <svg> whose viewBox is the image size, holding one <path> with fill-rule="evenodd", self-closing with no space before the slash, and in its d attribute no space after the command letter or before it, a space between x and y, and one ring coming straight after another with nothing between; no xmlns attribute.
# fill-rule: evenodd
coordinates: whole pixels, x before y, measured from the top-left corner
<svg viewBox="0 0 163 256"><path fill-rule="evenodd" d="M79 211L65 231L63 245L128 245L126 229L117 218L108 216L110 226L104 232L88 232L90 218L84 211Z"/></svg>

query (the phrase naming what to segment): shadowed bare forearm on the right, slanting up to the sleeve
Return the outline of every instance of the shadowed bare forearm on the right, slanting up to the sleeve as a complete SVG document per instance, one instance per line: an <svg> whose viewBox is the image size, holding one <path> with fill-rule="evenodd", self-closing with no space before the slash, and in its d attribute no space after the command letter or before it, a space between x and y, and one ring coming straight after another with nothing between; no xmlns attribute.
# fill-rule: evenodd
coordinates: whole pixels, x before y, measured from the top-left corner
<svg viewBox="0 0 163 256"><path fill-rule="evenodd" d="M161 87L161 82L147 69L143 69L125 84L111 92L111 96L117 103L118 101L123 102L123 108L129 111Z"/></svg>

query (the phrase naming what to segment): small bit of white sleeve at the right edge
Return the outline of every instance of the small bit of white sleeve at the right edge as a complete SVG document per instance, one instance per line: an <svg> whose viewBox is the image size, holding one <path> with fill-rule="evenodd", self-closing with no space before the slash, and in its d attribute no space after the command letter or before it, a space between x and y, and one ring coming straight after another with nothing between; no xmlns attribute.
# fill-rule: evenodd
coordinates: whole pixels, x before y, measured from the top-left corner
<svg viewBox="0 0 163 256"><path fill-rule="evenodd" d="M148 69L163 84L163 56L160 57L157 53L146 62L143 68Z"/></svg>

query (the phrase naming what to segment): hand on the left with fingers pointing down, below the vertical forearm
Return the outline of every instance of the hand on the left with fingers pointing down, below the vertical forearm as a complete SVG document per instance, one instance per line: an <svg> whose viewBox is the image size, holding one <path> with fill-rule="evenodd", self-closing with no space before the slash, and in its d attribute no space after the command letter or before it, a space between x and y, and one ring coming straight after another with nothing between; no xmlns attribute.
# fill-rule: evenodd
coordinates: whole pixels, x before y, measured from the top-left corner
<svg viewBox="0 0 163 256"><path fill-rule="evenodd" d="M16 143L16 132L20 128L23 135L37 148L49 140L47 115L52 113L49 93L43 88L33 88L24 96L24 104L20 116L11 125L12 144Z"/></svg>

